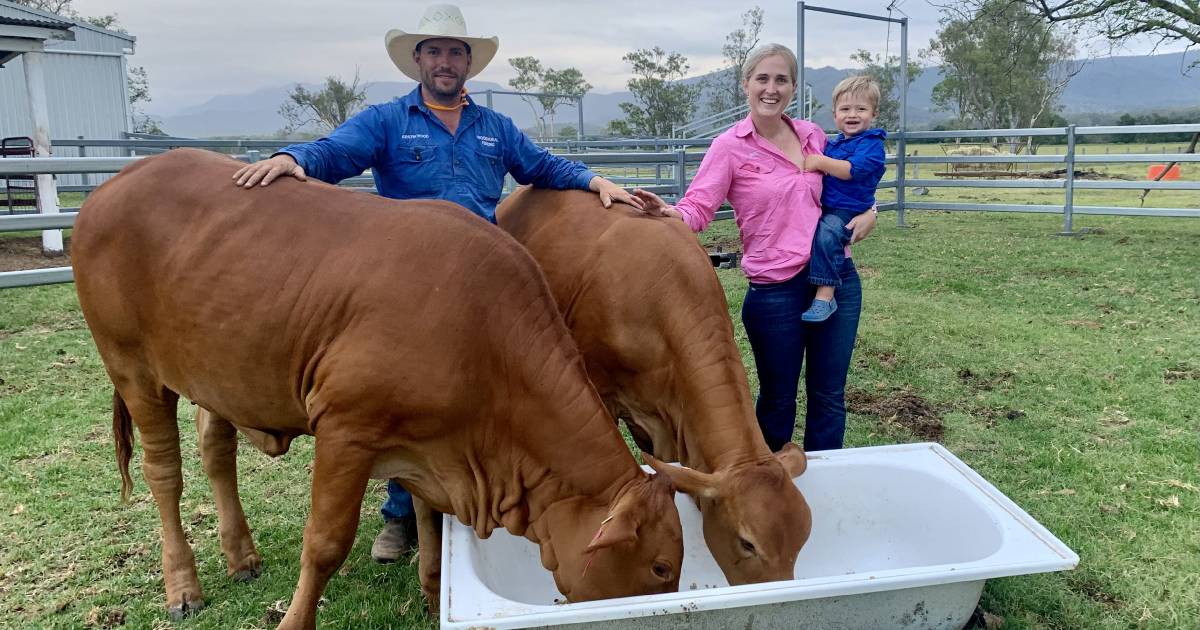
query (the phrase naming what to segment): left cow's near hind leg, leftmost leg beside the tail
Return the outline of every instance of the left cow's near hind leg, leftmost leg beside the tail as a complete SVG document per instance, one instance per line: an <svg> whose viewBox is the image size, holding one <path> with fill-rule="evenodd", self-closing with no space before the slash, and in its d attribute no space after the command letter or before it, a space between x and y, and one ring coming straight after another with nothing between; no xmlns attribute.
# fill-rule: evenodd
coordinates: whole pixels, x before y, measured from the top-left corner
<svg viewBox="0 0 1200 630"><path fill-rule="evenodd" d="M122 398L142 436L142 473L162 521L162 577L167 586L167 612L172 619L180 620L204 607L204 595L196 575L196 557L187 545L179 516L179 498L184 492L179 421L175 418L179 395L166 388L126 388Z"/></svg>

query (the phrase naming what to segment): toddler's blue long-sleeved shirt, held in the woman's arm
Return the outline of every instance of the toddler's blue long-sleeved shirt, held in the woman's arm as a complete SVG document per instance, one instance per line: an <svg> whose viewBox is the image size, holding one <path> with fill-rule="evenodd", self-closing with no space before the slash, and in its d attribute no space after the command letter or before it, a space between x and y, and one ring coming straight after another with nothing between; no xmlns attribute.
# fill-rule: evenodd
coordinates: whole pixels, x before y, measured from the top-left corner
<svg viewBox="0 0 1200 630"><path fill-rule="evenodd" d="M839 133L826 144L826 156L850 162L850 179L824 176L822 208L857 215L875 205L875 187L887 168L883 163L883 139L887 137L888 132L872 128L848 138Z"/></svg>

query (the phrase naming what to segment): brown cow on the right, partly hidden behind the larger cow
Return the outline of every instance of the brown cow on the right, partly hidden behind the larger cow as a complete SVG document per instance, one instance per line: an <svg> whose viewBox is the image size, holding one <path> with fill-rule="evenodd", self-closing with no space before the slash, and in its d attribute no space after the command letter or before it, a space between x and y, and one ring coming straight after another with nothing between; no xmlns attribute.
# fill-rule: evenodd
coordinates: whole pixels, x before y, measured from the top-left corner
<svg viewBox="0 0 1200 630"><path fill-rule="evenodd" d="M725 292L682 221L605 210L594 194L521 188L497 210L542 268L592 378L647 461L691 494L731 584L792 580L812 526L792 478L804 451L772 456L755 419Z"/></svg>

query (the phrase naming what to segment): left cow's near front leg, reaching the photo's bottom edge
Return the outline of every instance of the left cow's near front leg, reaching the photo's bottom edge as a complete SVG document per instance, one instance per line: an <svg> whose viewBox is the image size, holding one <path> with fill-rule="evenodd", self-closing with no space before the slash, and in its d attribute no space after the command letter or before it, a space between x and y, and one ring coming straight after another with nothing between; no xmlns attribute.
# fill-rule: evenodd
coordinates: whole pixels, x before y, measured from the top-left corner
<svg viewBox="0 0 1200 630"><path fill-rule="evenodd" d="M337 427L336 420L326 419ZM318 427L322 426L318 424ZM280 629L317 626L317 600L334 571L346 562L359 529L359 510L374 464L374 451L352 443L349 436L322 436L312 468L312 512L304 528L300 582Z"/></svg>

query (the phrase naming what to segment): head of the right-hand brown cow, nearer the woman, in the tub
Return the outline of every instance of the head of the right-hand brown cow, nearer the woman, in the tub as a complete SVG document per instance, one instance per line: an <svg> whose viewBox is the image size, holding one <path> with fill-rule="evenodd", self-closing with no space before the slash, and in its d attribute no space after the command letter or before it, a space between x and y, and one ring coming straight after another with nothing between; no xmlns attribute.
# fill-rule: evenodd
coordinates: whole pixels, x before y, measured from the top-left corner
<svg viewBox="0 0 1200 630"><path fill-rule="evenodd" d="M730 584L793 578L812 529L809 504L792 484L808 467L804 450L787 444L769 460L712 474L644 458L696 499L704 542Z"/></svg>

